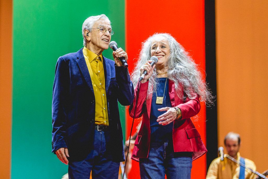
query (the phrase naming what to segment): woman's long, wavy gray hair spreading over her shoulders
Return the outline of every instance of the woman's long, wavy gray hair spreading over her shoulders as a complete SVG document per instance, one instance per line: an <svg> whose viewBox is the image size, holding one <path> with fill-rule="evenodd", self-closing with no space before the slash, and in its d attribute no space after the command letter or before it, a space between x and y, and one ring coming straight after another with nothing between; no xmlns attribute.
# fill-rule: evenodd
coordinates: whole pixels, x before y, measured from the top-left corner
<svg viewBox="0 0 268 179"><path fill-rule="evenodd" d="M169 42L170 55L167 58L166 69L168 72L168 79L172 80L175 84L176 92L181 93L182 89L180 89L180 86L183 86L183 99L187 97L193 99L199 95L200 101L205 101L207 104L213 104L212 99L214 97L206 85L206 82L202 79L202 75L200 71L198 71L197 65L189 53L185 51L183 46L181 46L170 34L166 33L155 33L143 42L139 59L131 75L133 85L137 85L138 79L140 78L140 68L151 57L152 39L159 36L165 37ZM149 78L147 94L153 92L154 86L158 86L156 69L154 69L152 76Z"/></svg>

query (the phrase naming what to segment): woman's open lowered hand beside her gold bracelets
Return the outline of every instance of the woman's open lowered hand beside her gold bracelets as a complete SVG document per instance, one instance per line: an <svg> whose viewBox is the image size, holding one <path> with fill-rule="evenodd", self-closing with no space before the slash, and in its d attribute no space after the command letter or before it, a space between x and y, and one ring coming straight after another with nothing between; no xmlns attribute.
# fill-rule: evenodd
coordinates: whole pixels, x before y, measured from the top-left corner
<svg viewBox="0 0 268 179"><path fill-rule="evenodd" d="M156 120L161 125L168 125L178 117L175 108L165 107L158 109L158 111L166 111L164 114L158 116L158 119Z"/></svg>

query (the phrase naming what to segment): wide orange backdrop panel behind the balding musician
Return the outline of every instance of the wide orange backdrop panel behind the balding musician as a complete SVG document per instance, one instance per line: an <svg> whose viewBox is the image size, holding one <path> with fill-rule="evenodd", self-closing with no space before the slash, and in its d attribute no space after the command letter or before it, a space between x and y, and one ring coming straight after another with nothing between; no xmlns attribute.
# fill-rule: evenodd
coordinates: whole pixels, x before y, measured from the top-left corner
<svg viewBox="0 0 268 179"><path fill-rule="evenodd" d="M241 156L267 160L268 1L216 1L218 141L234 131Z"/></svg>

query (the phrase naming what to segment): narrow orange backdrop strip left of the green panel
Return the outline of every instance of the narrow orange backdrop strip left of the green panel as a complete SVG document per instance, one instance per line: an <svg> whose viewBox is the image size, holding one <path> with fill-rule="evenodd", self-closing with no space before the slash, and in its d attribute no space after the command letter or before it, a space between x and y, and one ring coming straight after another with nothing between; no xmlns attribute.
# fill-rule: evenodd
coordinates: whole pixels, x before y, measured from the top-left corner
<svg viewBox="0 0 268 179"><path fill-rule="evenodd" d="M0 178L10 178L12 1L0 1Z"/></svg>

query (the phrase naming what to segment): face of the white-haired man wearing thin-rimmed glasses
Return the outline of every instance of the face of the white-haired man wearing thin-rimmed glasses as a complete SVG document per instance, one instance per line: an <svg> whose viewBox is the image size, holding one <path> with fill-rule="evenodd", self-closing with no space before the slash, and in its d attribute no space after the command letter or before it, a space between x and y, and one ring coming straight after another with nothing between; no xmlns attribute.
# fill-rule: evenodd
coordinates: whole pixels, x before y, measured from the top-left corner
<svg viewBox="0 0 268 179"><path fill-rule="evenodd" d="M98 29L98 27L105 27L107 31L103 33L100 29ZM93 45L95 49L97 48L102 51L108 49L111 41L111 35L109 34L109 31L111 31L111 25L109 21L100 19L95 22L92 28L91 32L89 32L91 45Z"/></svg>

